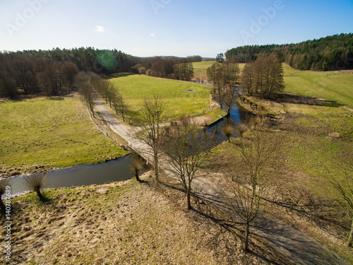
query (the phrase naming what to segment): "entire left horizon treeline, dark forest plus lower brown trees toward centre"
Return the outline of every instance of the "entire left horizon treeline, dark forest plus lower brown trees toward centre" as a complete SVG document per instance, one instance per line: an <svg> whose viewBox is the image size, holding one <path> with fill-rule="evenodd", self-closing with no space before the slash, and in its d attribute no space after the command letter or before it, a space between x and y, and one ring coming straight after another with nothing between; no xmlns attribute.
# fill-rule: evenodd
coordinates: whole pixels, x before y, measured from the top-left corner
<svg viewBox="0 0 353 265"><path fill-rule="evenodd" d="M140 58L114 50L91 47L75 49L0 52L0 97L14 98L21 92L56 95L73 89L73 78L80 71L107 75L142 73L162 78L190 81L198 55Z"/></svg>

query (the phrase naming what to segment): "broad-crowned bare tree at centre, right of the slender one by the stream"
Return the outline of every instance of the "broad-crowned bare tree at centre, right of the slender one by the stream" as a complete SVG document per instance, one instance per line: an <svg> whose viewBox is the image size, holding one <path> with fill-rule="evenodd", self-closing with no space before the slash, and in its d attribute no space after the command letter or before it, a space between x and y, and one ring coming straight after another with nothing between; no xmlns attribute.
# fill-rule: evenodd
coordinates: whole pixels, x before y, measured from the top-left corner
<svg viewBox="0 0 353 265"><path fill-rule="evenodd" d="M191 184L213 146L213 139L188 118L181 119L164 134L162 152L167 162L166 170L172 172L184 187L188 209L191 209Z"/></svg>

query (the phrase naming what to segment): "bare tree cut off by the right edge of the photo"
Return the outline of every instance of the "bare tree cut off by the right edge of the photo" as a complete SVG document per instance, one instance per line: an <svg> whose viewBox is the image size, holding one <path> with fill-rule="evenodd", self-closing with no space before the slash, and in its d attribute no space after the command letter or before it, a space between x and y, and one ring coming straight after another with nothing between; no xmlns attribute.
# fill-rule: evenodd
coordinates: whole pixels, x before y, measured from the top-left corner
<svg viewBox="0 0 353 265"><path fill-rule="evenodd" d="M335 176L330 172L328 179L331 186L340 196L340 204L349 208L351 213L352 227L348 235L347 246L353 247L353 159L352 155L347 156L348 161L337 163L336 169L340 176ZM350 159L349 159L350 158Z"/></svg>

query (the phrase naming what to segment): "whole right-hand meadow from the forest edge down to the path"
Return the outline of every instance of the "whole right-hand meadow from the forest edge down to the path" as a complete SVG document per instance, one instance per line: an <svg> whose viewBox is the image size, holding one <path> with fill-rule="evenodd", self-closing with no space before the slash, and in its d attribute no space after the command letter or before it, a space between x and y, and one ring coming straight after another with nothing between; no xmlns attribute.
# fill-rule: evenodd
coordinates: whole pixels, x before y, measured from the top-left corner
<svg viewBox="0 0 353 265"><path fill-rule="evenodd" d="M273 100L253 97L267 105L274 117L258 129L275 136L277 144L273 194L267 198L275 204L267 203L266 211L353 262L353 252L343 247L352 219L336 204L340 196L328 181L330 174L342 181L342 166L353 160L353 74L283 66L285 92ZM232 141L213 150L210 160L216 172L237 172L234 161L239 159L239 150L234 144L237 139Z"/></svg>

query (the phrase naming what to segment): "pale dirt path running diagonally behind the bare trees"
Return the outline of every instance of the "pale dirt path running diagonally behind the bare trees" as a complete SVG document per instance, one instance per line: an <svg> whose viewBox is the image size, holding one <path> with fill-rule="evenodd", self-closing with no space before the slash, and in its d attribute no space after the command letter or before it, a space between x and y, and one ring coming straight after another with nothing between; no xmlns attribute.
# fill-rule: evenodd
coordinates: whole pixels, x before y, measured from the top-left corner
<svg viewBox="0 0 353 265"><path fill-rule="evenodd" d="M107 121L112 131L119 134L128 141L128 144L143 153L145 158L149 158L148 146L141 143L133 136L133 129L131 126L121 124L105 109L104 105L96 102L96 107ZM151 158L149 159L152 160ZM210 204L219 208L222 211L229 213L234 220L238 220L227 204L225 204L225 197L213 182L202 177L193 180L193 190L201 199L205 199ZM342 265L346 264L337 254L332 252L327 247L321 245L313 237L306 235L304 232L293 228L281 220L269 216L266 213L260 213L256 222L252 225L251 232L260 235L275 249L285 254L295 264L317 264L317 265Z"/></svg>

